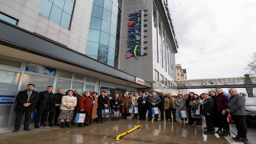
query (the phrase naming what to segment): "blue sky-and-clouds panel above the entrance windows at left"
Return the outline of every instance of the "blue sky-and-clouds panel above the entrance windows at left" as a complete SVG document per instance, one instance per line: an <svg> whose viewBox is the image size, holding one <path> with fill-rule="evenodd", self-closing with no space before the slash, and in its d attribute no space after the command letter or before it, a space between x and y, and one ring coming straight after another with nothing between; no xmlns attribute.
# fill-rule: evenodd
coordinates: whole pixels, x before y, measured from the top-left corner
<svg viewBox="0 0 256 144"><path fill-rule="evenodd" d="M56 73L56 69L54 68L49 68L46 66L37 65L33 63L27 63L25 71L53 75L53 76L55 76L55 73Z"/></svg>

